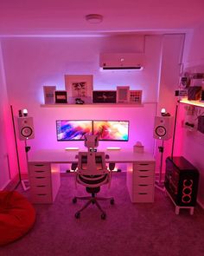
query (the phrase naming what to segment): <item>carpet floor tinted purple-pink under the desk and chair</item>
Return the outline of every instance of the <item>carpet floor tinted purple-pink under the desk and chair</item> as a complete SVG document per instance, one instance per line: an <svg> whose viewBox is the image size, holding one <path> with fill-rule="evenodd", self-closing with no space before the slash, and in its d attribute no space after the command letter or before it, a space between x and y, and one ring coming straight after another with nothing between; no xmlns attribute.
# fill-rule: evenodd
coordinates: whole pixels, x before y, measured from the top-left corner
<svg viewBox="0 0 204 256"><path fill-rule="evenodd" d="M85 187L74 188L73 174L63 174L61 188L53 205L35 205L34 228L22 239L0 247L0 255L68 256L187 256L204 255L204 212L195 207L194 215L175 207L156 188L155 203L132 204L125 186L125 173L112 176L112 187L99 195L113 195L115 205L101 202L106 220L94 205L74 213L84 204L73 204L74 194L84 195ZM22 192L21 186L18 190ZM22 192L29 198L29 191Z"/></svg>

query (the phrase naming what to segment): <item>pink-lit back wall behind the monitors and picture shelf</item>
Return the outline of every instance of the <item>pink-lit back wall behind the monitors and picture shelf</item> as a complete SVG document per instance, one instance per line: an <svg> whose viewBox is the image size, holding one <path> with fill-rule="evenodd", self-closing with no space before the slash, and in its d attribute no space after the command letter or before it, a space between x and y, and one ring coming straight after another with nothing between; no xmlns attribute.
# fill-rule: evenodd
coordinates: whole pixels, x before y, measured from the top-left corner
<svg viewBox="0 0 204 256"><path fill-rule="evenodd" d="M153 128L157 102L162 101L162 95L167 95L170 99L169 91L172 90L174 93L181 42L181 36L174 35L3 38L3 60L10 104L13 105L16 116L18 109L28 108L29 115L34 117L35 139L28 141L31 152L39 148L83 145L82 141L57 142L55 135L57 119L129 120L130 141L101 142L101 147L132 148L136 141L142 141L144 148L153 152L155 147ZM144 69L101 72L99 70L100 52L144 52L146 59ZM175 57L172 58L172 56ZM172 68L174 65L176 67ZM118 85L130 85L131 89L142 89L144 107L41 108L43 85L55 85L57 89L65 89L65 74L92 74L93 89L116 89ZM169 78L171 78L170 81ZM173 83L174 86L171 88ZM166 102L165 97L163 101ZM172 102L172 106L174 104L175 102ZM170 111L170 109L167 110ZM171 145L168 147L170 148ZM21 170L26 172L23 141L18 141L18 148ZM159 159L159 153L156 152L156 154Z"/></svg>

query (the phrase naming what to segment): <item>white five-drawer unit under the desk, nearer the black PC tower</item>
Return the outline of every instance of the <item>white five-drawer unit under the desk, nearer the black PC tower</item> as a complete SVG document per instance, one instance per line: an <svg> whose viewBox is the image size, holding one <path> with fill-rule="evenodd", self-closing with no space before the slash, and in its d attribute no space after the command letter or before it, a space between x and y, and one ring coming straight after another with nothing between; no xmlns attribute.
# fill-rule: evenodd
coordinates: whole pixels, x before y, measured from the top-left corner
<svg viewBox="0 0 204 256"><path fill-rule="evenodd" d="M126 182L131 202L153 202L155 197L155 161L136 161L129 165Z"/></svg>

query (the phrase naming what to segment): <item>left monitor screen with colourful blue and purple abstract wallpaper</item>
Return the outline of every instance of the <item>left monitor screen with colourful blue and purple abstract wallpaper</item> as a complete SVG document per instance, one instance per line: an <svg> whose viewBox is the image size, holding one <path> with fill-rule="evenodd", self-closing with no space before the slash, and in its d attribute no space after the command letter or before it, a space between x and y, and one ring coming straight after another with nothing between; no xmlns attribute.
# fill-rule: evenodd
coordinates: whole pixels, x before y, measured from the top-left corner
<svg viewBox="0 0 204 256"><path fill-rule="evenodd" d="M82 141L92 135L92 121L57 120L57 141Z"/></svg>

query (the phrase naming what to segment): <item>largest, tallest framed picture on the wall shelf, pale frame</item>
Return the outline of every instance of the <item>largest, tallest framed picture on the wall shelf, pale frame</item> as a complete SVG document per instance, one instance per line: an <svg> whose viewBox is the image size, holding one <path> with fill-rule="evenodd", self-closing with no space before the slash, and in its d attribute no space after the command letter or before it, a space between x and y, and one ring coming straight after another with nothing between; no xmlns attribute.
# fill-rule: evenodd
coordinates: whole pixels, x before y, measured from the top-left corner
<svg viewBox="0 0 204 256"><path fill-rule="evenodd" d="M74 103L80 98L85 103L92 103L92 80L92 75L65 75L68 102Z"/></svg>

